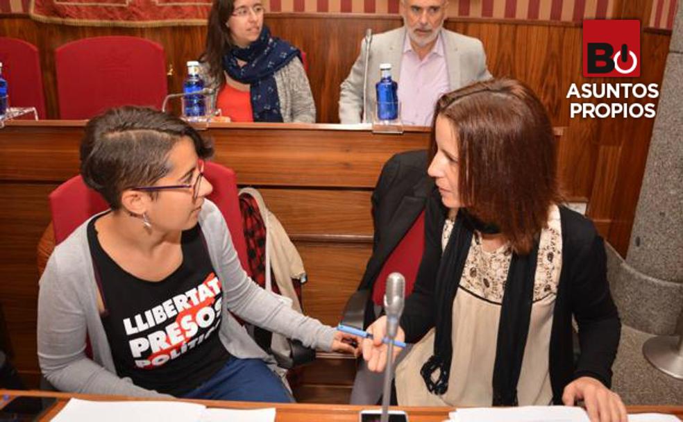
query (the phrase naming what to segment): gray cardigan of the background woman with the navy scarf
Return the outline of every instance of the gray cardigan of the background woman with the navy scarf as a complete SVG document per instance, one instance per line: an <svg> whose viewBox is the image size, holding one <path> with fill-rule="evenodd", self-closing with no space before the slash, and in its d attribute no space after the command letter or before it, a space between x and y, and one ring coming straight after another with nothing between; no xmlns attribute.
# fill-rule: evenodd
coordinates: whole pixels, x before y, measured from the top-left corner
<svg viewBox="0 0 683 422"><path fill-rule="evenodd" d="M204 79L204 85L214 88L214 93L206 97L208 110L211 112L216 109L216 97L221 86L209 75L208 70L208 65L202 62L200 73ZM292 59L285 67L276 71L273 78L278 87L280 114L283 116L283 121L285 123L292 121L315 123L315 102L301 60Z"/></svg>

